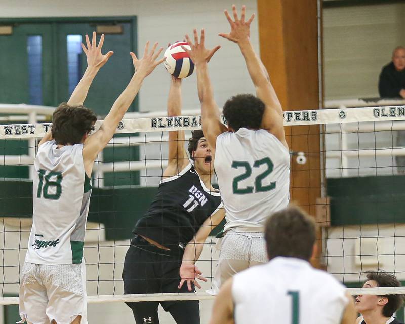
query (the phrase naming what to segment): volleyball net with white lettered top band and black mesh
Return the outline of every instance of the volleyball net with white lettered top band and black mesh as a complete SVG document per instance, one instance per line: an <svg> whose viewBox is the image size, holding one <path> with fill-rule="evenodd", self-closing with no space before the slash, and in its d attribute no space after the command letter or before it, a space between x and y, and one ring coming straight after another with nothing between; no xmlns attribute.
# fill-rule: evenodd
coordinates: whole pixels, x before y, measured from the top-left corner
<svg viewBox="0 0 405 324"><path fill-rule="evenodd" d="M358 289L368 270L405 280L405 106L286 111L291 145L291 200L321 228L318 264L358 294L404 294L404 288ZM226 123L226 120L223 119ZM100 127L97 121L95 130ZM0 125L1 292L18 294L32 225L33 159L49 123ZM219 252L211 235L197 261L208 282L195 294L123 295L125 253L168 159L168 132L201 128L198 115L124 119L93 168L84 256L89 303L211 299ZM184 143L186 145L186 143ZM215 177L213 179L215 183ZM298 198L299 199L299 198ZM181 230L181 228L180 228ZM0 304L16 304L4 297Z"/></svg>

